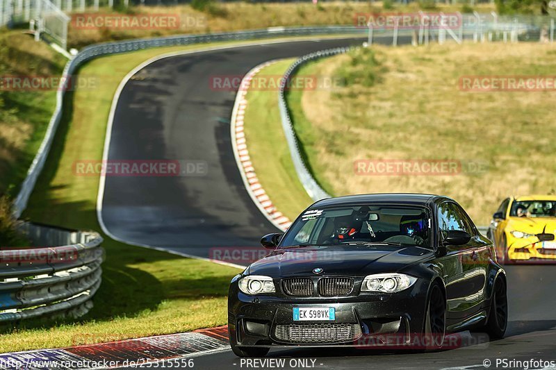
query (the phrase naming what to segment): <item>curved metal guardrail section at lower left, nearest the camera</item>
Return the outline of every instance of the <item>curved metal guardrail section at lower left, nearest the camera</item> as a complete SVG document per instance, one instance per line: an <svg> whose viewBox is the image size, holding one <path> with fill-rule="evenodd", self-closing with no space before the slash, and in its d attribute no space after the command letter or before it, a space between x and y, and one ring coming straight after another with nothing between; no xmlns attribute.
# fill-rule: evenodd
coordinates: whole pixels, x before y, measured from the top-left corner
<svg viewBox="0 0 556 370"><path fill-rule="evenodd" d="M0 248L0 323L88 312L101 283L102 237L29 223L19 230L41 246Z"/></svg>

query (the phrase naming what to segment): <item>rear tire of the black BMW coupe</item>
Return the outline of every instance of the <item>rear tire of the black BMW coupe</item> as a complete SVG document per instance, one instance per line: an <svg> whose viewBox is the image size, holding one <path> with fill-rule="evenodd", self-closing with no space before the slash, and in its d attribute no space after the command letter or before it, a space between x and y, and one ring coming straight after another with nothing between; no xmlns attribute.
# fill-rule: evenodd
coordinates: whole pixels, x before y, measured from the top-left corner
<svg viewBox="0 0 556 370"><path fill-rule="evenodd" d="M506 333L507 324L508 298L506 280L504 278L497 278L492 292L491 310L483 331L489 335L491 340L502 339Z"/></svg>

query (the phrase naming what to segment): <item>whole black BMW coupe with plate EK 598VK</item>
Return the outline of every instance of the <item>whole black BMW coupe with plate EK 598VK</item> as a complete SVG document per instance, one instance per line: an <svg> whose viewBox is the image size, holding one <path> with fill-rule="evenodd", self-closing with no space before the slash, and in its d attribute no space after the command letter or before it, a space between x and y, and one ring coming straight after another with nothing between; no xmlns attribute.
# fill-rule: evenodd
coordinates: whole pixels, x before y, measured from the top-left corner
<svg viewBox="0 0 556 370"><path fill-rule="evenodd" d="M229 340L240 357L274 346L435 349L446 333L505 334L505 271L445 196L325 199L261 244L272 252L229 289Z"/></svg>

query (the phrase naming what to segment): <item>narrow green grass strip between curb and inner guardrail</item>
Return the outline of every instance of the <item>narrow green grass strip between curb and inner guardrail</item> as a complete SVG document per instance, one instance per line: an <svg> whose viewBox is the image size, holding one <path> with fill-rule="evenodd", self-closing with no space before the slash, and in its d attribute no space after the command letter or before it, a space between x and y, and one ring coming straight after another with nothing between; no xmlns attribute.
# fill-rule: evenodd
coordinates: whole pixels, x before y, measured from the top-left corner
<svg viewBox="0 0 556 370"><path fill-rule="evenodd" d="M257 76L286 72L294 59L265 67ZM272 203L292 221L313 201L300 183L281 126L276 90L250 90L245 110L245 140L256 175Z"/></svg>

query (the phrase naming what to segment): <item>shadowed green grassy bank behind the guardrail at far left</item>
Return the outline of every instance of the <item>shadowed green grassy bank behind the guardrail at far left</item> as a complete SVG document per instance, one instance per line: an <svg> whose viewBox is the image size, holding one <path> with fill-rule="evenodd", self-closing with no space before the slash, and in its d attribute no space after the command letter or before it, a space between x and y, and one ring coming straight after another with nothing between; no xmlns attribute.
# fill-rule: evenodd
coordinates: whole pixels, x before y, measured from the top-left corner
<svg viewBox="0 0 556 370"><path fill-rule="evenodd" d="M21 31L0 32L1 76L61 76L65 58ZM56 106L56 90L0 90L0 195L15 196Z"/></svg>

